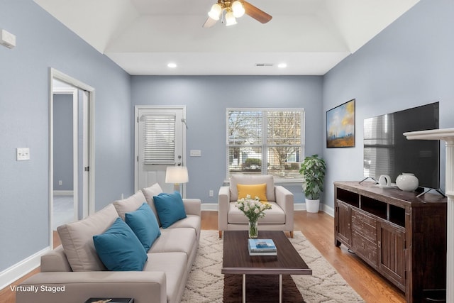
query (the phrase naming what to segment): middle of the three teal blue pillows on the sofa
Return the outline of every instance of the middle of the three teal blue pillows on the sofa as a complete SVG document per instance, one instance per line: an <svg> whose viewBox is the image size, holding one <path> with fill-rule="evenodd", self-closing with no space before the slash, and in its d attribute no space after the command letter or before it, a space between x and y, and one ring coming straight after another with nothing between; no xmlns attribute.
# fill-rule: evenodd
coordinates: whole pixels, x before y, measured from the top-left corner
<svg viewBox="0 0 454 303"><path fill-rule="evenodd" d="M125 221L131 227L140 243L142 243L145 251L150 250L153 242L155 242L157 237L161 236L156 216L147 202L144 202L136 211L127 212Z"/></svg>

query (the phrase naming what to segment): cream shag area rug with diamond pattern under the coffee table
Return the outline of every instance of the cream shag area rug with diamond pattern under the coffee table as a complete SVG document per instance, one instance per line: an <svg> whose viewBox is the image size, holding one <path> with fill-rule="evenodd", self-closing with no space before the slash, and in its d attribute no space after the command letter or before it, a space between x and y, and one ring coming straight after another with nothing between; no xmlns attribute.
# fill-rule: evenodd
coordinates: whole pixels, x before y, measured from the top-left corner
<svg viewBox="0 0 454 303"><path fill-rule="evenodd" d="M218 231L201 231L199 250L182 302L223 302L223 239L218 235ZM295 231L294 238L289 240L312 269L311 276L292 275L304 302L365 302L301 231Z"/></svg>

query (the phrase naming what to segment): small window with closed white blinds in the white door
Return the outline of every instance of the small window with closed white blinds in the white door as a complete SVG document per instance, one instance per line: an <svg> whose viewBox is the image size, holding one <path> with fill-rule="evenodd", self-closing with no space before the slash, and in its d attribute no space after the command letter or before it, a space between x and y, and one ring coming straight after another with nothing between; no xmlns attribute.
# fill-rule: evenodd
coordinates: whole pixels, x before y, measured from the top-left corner
<svg viewBox="0 0 454 303"><path fill-rule="evenodd" d="M143 132L145 164L175 164L175 114L146 115Z"/></svg>

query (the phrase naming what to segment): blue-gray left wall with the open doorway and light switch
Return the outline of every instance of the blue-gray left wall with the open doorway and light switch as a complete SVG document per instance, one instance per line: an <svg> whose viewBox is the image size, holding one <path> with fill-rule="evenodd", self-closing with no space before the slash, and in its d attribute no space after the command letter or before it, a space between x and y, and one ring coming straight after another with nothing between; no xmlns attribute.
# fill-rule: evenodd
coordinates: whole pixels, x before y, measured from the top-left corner
<svg viewBox="0 0 454 303"><path fill-rule="evenodd" d="M49 245L50 67L96 89L96 209L133 191L130 76L31 0L0 0L0 272ZM16 148L31 160L16 161Z"/></svg>

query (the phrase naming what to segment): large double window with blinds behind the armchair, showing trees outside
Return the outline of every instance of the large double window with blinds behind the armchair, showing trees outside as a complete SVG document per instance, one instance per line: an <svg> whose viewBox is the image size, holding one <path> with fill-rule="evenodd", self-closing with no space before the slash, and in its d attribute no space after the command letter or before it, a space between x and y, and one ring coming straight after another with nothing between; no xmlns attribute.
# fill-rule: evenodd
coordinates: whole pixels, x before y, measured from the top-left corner
<svg viewBox="0 0 454 303"><path fill-rule="evenodd" d="M297 179L304 155L304 109L227 109L228 175Z"/></svg>

